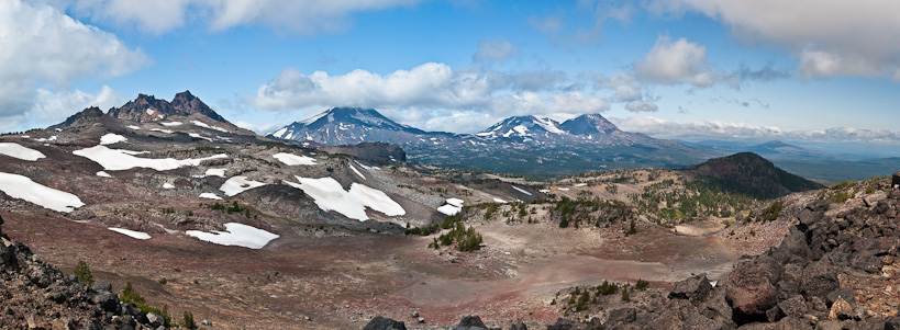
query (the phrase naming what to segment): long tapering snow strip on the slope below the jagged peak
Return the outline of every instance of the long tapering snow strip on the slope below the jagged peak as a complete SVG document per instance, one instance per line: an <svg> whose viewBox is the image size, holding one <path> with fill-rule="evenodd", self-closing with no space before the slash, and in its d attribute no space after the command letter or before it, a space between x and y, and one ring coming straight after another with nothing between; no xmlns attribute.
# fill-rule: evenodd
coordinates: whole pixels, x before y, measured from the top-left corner
<svg viewBox="0 0 900 330"><path fill-rule="evenodd" d="M153 159L140 158L132 155L140 153L138 151L110 149L105 146L96 146L86 149L75 150L71 153L90 159L108 171L122 171L133 168L148 168L157 171L174 170L180 167L196 167L204 160L227 158L226 155L220 153L204 158L193 159Z"/></svg>

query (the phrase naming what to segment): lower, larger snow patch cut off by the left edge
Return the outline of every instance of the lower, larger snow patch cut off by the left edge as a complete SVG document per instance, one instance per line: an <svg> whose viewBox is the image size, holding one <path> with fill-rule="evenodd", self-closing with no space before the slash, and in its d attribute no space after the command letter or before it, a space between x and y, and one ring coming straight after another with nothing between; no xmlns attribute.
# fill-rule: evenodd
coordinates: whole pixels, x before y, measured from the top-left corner
<svg viewBox="0 0 900 330"><path fill-rule="evenodd" d="M31 181L27 177L0 172L0 191L56 212L69 213L85 203L78 196Z"/></svg>

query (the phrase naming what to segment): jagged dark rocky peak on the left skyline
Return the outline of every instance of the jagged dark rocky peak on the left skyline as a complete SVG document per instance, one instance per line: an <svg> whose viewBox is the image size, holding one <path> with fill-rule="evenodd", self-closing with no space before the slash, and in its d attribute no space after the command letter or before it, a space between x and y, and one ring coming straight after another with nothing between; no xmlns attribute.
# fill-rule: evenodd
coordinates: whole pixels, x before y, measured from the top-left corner
<svg viewBox="0 0 900 330"><path fill-rule="evenodd" d="M129 101L121 107L113 107L109 114L112 117L135 122L156 122L170 115L189 116L202 114L214 121L226 123L225 118L210 109L203 101L184 91L175 95L171 102L156 99L154 95L137 94L137 99Z"/></svg>

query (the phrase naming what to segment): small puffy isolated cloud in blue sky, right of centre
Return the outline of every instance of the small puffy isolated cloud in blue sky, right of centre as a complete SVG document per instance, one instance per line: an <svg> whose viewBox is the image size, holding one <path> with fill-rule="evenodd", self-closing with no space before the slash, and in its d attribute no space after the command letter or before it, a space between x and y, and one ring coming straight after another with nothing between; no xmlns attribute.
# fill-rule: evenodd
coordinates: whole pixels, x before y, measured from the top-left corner
<svg viewBox="0 0 900 330"><path fill-rule="evenodd" d="M659 36L647 55L634 64L636 78L642 81L709 87L720 78L707 61L707 47L667 35Z"/></svg>

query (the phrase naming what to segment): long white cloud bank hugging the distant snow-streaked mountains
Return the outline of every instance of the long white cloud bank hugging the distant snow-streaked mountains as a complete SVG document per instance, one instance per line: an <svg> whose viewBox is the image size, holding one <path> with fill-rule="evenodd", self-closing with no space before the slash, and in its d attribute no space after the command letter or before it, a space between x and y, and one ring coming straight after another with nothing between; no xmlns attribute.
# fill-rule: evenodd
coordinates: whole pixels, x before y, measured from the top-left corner
<svg viewBox="0 0 900 330"><path fill-rule="evenodd" d="M560 75L453 70L436 62L384 76L362 69L344 75L304 75L287 68L244 101L299 116L332 106L374 107L408 125L455 133L477 132L513 115L609 110L602 98L558 86L565 80Z"/></svg>

